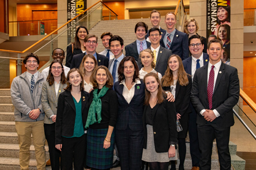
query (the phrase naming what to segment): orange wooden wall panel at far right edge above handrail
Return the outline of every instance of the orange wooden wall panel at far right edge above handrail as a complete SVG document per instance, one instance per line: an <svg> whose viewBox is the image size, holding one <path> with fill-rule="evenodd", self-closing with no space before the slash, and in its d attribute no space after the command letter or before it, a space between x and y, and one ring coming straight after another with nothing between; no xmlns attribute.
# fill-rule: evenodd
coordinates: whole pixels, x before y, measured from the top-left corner
<svg viewBox="0 0 256 170"><path fill-rule="evenodd" d="M244 57L244 92L256 102L256 57ZM244 105L246 103L244 102Z"/></svg>

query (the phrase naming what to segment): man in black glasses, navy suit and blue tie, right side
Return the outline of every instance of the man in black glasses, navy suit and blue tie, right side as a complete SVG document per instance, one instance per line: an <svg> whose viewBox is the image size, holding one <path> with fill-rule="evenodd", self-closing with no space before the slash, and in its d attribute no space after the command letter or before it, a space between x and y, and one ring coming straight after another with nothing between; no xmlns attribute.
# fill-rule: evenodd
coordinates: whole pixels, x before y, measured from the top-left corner
<svg viewBox="0 0 256 170"><path fill-rule="evenodd" d="M203 53L204 43L200 35L192 35L189 38L189 50L191 57L182 61L184 70L189 75L194 76L197 69L206 65L209 62L209 56ZM198 136L197 136L197 113L190 102L192 113L189 114L189 140L190 140L190 155L192 159L192 170L199 169L199 161L201 152L199 150Z"/></svg>

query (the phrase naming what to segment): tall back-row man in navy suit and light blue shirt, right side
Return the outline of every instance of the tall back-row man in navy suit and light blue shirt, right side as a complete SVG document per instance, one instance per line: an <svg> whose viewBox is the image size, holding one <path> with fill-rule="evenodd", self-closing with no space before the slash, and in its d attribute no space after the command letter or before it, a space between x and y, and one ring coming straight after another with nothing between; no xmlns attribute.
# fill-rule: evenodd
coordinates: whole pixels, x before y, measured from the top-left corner
<svg viewBox="0 0 256 170"><path fill-rule="evenodd" d="M188 35L175 29L176 15L174 12L168 12L165 15L164 23L167 26L167 31L163 35L160 45L185 60L189 57Z"/></svg>

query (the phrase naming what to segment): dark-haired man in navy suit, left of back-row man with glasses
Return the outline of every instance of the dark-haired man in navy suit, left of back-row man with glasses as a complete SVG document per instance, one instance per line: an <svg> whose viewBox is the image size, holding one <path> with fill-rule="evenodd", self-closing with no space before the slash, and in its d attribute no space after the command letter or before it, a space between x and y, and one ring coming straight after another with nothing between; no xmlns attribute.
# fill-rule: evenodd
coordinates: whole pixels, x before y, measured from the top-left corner
<svg viewBox="0 0 256 170"><path fill-rule="evenodd" d="M136 61L138 61L140 51L147 49L151 45L151 43L145 39L147 32L147 24L139 22L135 25L135 35L137 40L124 48L126 50L126 56L132 56Z"/></svg>

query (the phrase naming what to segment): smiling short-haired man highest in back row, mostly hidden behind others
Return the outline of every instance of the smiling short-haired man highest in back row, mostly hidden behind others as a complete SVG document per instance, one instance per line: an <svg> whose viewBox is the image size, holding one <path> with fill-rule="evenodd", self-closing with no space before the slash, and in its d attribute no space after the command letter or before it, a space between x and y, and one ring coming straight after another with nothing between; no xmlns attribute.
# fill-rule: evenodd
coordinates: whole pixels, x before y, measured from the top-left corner
<svg viewBox="0 0 256 170"><path fill-rule="evenodd" d="M158 12L157 10L151 11L150 12L150 21L151 21L151 24L152 24L152 28L153 27L159 28L160 31L161 31L161 35L162 34L165 35L166 31L163 28L160 27L160 21L161 21L161 14L160 14L160 12ZM146 34L145 38L146 38L147 41L150 41L149 40L149 31ZM163 36L162 36L161 40L162 39L163 39Z"/></svg>

